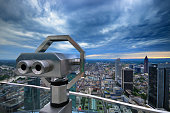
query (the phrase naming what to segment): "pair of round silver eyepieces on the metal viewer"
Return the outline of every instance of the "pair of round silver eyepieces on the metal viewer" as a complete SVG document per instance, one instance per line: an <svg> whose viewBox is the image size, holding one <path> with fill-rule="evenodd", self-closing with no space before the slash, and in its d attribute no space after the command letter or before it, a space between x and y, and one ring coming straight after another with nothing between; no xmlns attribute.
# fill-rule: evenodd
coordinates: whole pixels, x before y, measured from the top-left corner
<svg viewBox="0 0 170 113"><path fill-rule="evenodd" d="M21 60L17 64L18 72L21 74L33 72L35 75L39 75L50 71L52 67L52 63L47 60Z"/></svg>

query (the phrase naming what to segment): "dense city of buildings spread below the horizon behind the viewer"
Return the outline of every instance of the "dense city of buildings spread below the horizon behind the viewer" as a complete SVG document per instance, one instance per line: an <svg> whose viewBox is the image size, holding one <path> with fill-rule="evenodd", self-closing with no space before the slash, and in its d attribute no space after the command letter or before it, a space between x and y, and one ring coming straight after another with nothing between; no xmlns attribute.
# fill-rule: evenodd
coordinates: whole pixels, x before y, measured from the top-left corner
<svg viewBox="0 0 170 113"><path fill-rule="evenodd" d="M78 110L78 111L105 111L105 110L111 110L112 111L127 111L130 112L137 112L139 110L139 106L141 108L140 111L145 110L145 108L156 111L156 112L163 112L159 111L157 107L154 109L148 108L150 104L152 104L152 93L154 91L159 90L159 94L157 95L160 97L160 105L158 108L161 108L161 110L169 110L170 104L169 104L169 72L170 72L170 64L169 59L149 59L150 66L153 65L154 69L149 69L149 73L144 72L144 65L145 62L144 59L142 60L120 60L117 59L117 65L120 63L121 65L121 78L122 79L122 87L120 86L119 82L116 82L116 63L114 65L113 60L87 60L85 63L85 75L81 77L77 83L70 89L70 91L73 91L74 93L81 92L83 95L86 94L89 97L89 94L92 95L92 100L89 100L88 98L77 98L79 96L70 94L70 99L72 99L72 110ZM121 61L121 62L120 62ZM11 65L13 64L13 65ZM158 68L154 65L158 65ZM36 107L41 106L41 108L47 104L50 101L50 92L49 88L44 87L44 83L37 82L36 88L31 88L30 84L34 84L32 82L35 82L34 79L30 79L28 77L24 76L17 76L14 73L15 68L15 62L13 61L2 61L0 65L0 72L1 72L1 109L5 111L12 111L14 109L17 109L17 111L23 111L23 110L35 110ZM120 70L120 71L121 71ZM77 71L75 71L77 72ZM75 72L70 72L70 74L67 76L68 80L73 79L76 76ZM157 74L155 74L157 73ZM157 76L157 77L155 77ZM67 79L66 79L67 80ZM11 87L10 85L6 84L6 81L12 82L9 84L13 84ZM158 82L156 82L158 81ZM28 83L28 84L27 84ZM158 84L157 84L158 83ZM27 84L29 87L24 87L25 84ZM15 86L16 85L16 86ZM17 87L19 85L19 87ZM24 85L24 86L22 86ZM34 84L35 85L35 84ZM37 90L37 85L41 87L42 89L40 91ZM22 86L22 87L21 87ZM157 86L157 87L156 87ZM164 87L165 86L165 87ZM149 90L149 89L151 90ZM31 90L32 89L32 90ZM46 89L46 91L45 91ZM72 90L73 89L73 90ZM18 93L19 92L19 93ZM29 93L28 93L29 92ZM148 99L149 92L151 92L151 99ZM40 94L40 97L38 95ZM66 93L64 93L66 94ZM155 94L155 93L154 93ZM93 99L96 96L98 98L106 98L110 101L114 100L115 102L122 102L122 104L115 104L113 102L113 106L111 103L106 103L105 105L102 104L101 100L99 103L99 100ZM164 98L162 97L164 96ZM34 98L35 97L35 98ZM10 100L9 100L10 99ZM12 100L13 103L11 103ZM18 101L19 100L19 101ZM29 102L34 104L28 104ZM43 100L38 102L38 100ZM102 100L103 101L103 100ZM148 104L147 104L148 102ZM151 103L150 103L151 102ZM164 104L162 104L162 102ZM23 104L24 103L24 104ZM89 104L88 104L89 103ZM156 103L156 102L155 102ZM13 105L17 106L13 106ZM124 105L124 108L122 108L122 105ZM133 106L132 108L127 107L127 104L130 106ZM10 105L10 106L9 106ZM114 109L117 105L117 109ZM163 106L162 106L163 105ZM134 106L137 106L137 109L134 108ZM44 106L45 107L45 106ZM152 107L152 106L150 106ZM79 109L81 108L81 109ZM70 108L71 109L71 108ZM124 110L126 109L126 110ZM37 109L36 109L37 110ZM42 109L41 109L42 110ZM166 112L166 111L165 111ZM167 111L168 112L168 111Z"/></svg>

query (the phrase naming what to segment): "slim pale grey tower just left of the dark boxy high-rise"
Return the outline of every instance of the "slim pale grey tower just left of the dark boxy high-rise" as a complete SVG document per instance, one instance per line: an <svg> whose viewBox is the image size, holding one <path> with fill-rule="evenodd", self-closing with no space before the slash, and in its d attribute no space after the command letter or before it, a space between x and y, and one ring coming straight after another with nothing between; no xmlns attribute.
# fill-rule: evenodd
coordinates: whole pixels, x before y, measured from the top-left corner
<svg viewBox="0 0 170 113"><path fill-rule="evenodd" d="M115 60L115 81L119 82L121 81L121 63L120 63L120 58Z"/></svg>

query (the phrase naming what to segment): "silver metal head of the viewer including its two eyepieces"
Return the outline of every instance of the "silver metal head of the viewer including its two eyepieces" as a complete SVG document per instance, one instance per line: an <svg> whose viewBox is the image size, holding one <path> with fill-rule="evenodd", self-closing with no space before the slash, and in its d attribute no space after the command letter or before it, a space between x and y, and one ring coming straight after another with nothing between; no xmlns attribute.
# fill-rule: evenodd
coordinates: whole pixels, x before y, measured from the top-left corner
<svg viewBox="0 0 170 113"><path fill-rule="evenodd" d="M16 61L18 75L56 78L64 78L80 64L76 55L61 53L22 53Z"/></svg>

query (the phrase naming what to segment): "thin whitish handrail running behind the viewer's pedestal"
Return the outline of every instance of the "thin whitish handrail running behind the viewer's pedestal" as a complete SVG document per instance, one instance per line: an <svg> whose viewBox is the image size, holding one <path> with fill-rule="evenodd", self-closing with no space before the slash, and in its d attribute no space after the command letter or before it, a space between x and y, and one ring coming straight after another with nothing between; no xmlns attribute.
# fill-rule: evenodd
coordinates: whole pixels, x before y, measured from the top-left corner
<svg viewBox="0 0 170 113"><path fill-rule="evenodd" d="M9 82L0 82L0 84L27 86L27 87L34 87L34 88L41 88L41 89L50 90L50 88L48 88L48 87L28 85L28 84L18 84L18 83L9 83ZM168 111L157 110L157 109L147 108L147 107L143 107L143 106L133 105L133 104L125 103L125 102L120 102L120 101L116 101L116 100L112 100L112 99L108 99L108 98L103 98L103 97L99 97L99 96L95 96L95 95L90 95L90 94L84 94L84 93L80 93L80 92L69 91L69 94L75 95L75 96L87 97L87 98L94 98L94 99L98 99L98 100L102 100L102 101L114 103L114 104L121 104L121 105L124 105L124 106L132 107L132 108L137 109L139 111L141 110L141 111L153 112L153 113L169 113Z"/></svg>

